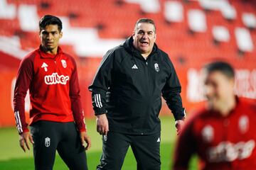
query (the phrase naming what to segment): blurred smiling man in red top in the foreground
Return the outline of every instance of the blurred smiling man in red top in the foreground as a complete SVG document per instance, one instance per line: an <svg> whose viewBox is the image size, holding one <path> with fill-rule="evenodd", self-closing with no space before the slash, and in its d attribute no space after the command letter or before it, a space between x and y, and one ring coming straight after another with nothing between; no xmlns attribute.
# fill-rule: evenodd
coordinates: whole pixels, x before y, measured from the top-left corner
<svg viewBox="0 0 256 170"><path fill-rule="evenodd" d="M235 96L228 63L213 62L204 71L207 106L181 130L174 169L188 169L192 154L198 154L200 169L256 169L255 102Z"/></svg>

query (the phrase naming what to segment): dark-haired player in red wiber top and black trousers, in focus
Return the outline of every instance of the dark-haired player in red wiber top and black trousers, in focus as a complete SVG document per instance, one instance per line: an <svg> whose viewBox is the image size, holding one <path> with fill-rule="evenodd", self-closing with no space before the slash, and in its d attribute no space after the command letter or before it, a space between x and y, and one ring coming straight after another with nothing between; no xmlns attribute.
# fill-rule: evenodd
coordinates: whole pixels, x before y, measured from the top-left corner
<svg viewBox="0 0 256 170"><path fill-rule="evenodd" d="M85 149L91 145L80 102L75 60L58 42L62 22L46 15L39 22L41 45L21 61L14 90L14 115L24 152L33 143L35 169L53 169L56 150L69 169L87 169ZM28 130L24 98L29 89ZM87 146L85 146L85 142Z"/></svg>

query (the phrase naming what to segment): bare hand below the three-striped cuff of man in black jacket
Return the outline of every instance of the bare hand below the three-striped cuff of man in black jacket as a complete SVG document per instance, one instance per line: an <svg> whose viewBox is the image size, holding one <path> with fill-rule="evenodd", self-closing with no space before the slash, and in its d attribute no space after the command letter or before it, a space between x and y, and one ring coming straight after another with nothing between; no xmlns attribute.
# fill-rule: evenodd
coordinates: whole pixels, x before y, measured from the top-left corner
<svg viewBox="0 0 256 170"><path fill-rule="evenodd" d="M107 135L107 132L109 131L109 126L106 114L97 115L96 125L97 132L99 132L100 135Z"/></svg>

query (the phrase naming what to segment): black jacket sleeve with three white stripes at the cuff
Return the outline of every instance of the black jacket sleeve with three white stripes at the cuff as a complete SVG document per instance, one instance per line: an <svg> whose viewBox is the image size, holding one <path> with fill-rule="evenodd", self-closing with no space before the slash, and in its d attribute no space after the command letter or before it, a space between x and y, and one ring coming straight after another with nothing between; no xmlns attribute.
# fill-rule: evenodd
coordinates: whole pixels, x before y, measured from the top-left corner
<svg viewBox="0 0 256 170"><path fill-rule="evenodd" d="M95 115L107 113L107 90L110 88L112 82L113 62L114 53L113 50L109 50L104 55L100 67L97 69L92 85L88 88L89 91L92 91L92 106Z"/></svg>

